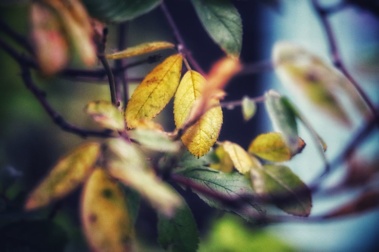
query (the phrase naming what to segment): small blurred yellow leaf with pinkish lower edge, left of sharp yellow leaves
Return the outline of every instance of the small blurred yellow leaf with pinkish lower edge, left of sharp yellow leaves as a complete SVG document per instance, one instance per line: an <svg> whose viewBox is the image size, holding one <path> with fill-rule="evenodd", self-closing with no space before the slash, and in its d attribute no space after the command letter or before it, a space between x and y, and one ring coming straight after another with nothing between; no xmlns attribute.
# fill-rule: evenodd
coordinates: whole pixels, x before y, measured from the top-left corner
<svg viewBox="0 0 379 252"><path fill-rule="evenodd" d="M91 101L86 106L87 114L105 128L116 131L124 130L124 117L121 112L108 101Z"/></svg>

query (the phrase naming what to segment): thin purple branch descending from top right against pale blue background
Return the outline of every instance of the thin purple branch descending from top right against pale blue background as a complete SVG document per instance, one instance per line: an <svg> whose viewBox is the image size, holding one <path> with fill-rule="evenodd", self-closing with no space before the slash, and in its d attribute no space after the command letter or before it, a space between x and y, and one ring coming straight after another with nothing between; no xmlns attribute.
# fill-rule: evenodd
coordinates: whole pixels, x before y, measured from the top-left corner
<svg viewBox="0 0 379 252"><path fill-rule="evenodd" d="M334 33L332 31L332 26L328 19L328 13L324 8L321 7L318 0L312 0L313 8L315 8L316 13L318 14L321 23L324 26L324 30L326 32L326 36L329 42L330 53L332 54L334 65L341 70L341 72L349 79L355 89L359 92L360 96L363 98L367 106L370 108L372 114L376 115L376 109L370 98L366 95L363 89L360 87L358 82L351 76L349 71L347 70L345 64L343 64L340 56L340 52L338 50L337 41L335 39Z"/></svg>

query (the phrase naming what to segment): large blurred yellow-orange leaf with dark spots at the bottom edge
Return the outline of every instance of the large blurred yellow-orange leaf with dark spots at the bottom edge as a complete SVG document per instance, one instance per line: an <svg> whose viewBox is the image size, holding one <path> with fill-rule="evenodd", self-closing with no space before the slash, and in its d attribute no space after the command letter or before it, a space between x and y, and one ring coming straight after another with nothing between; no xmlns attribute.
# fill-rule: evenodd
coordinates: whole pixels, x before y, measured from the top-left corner
<svg viewBox="0 0 379 252"><path fill-rule="evenodd" d="M103 169L94 170L83 188L81 221L94 251L132 251L134 227L125 195Z"/></svg>

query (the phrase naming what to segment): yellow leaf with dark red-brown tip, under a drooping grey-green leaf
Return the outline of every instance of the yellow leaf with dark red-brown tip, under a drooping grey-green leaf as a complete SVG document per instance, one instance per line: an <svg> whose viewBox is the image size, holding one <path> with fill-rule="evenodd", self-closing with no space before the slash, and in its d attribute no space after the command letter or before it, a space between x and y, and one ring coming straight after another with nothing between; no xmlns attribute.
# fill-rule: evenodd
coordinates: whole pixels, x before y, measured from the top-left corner
<svg viewBox="0 0 379 252"><path fill-rule="evenodd" d="M285 144L282 135L276 132L258 135L250 144L249 152L262 159L273 162L290 160L294 155L300 153L305 147L304 141L299 137L298 152L291 154Z"/></svg>

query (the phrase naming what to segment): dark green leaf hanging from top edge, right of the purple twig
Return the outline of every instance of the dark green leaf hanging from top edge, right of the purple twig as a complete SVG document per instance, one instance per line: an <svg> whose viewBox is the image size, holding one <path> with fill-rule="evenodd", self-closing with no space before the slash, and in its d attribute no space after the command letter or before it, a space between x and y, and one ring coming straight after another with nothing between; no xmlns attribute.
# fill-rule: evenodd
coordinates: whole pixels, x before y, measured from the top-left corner
<svg viewBox="0 0 379 252"><path fill-rule="evenodd" d="M229 0L192 0L209 36L228 55L239 57L242 48L242 20Z"/></svg>

